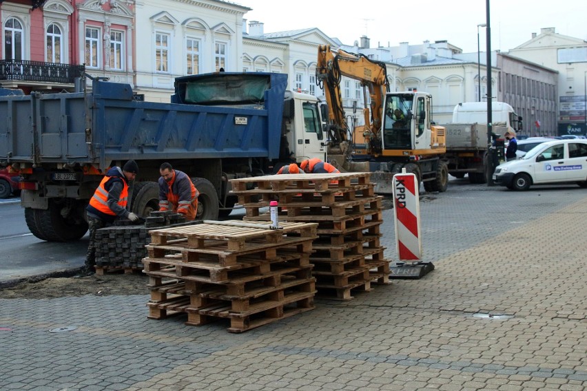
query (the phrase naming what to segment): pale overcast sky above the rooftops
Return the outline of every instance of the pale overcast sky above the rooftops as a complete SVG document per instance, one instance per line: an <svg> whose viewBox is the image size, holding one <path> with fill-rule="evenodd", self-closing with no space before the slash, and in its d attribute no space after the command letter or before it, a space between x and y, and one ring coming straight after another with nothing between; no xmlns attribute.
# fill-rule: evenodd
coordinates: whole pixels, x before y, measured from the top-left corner
<svg viewBox="0 0 587 391"><path fill-rule="evenodd" d="M253 10L247 21L264 23L265 32L319 28L345 45L361 36L371 47L442 41L477 52L477 25L486 22L485 0L233 0ZM587 40L586 0L491 0L491 49L507 52L541 28ZM486 45L480 28L480 45Z"/></svg>

